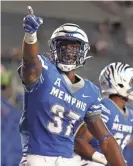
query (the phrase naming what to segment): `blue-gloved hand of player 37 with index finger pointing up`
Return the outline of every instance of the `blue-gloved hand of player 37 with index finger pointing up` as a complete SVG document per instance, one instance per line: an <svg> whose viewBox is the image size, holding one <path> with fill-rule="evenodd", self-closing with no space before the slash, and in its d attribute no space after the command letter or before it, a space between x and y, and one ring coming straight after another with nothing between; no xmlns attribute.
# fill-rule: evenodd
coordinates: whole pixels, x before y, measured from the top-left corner
<svg viewBox="0 0 133 166"><path fill-rule="evenodd" d="M31 6L27 6L28 15L23 19L23 27L25 32L34 33L38 30L41 24L43 24L43 19L34 15Z"/></svg>

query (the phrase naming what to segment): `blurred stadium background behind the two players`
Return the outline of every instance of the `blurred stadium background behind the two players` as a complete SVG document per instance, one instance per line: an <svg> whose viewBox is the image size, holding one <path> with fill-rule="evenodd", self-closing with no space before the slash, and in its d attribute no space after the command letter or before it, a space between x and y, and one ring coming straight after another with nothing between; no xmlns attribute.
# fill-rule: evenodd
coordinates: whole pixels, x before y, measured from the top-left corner
<svg viewBox="0 0 133 166"><path fill-rule="evenodd" d="M98 85L100 70L114 61L133 66L133 1L99 2L1 2L1 160L2 166L18 166L21 144L18 132L22 112L23 87L17 75L21 62L23 40L23 17L26 6L31 5L36 15L42 16L44 24L38 32L40 53L48 51L48 39L61 24L79 24L88 34L90 56L83 77ZM133 166L133 149L126 148L124 155L128 166Z"/></svg>

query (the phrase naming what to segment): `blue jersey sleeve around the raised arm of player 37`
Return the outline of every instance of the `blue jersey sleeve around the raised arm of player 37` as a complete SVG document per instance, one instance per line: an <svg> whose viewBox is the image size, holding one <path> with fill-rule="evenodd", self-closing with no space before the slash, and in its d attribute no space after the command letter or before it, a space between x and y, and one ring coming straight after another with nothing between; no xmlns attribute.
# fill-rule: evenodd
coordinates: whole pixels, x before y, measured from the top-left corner
<svg viewBox="0 0 133 166"><path fill-rule="evenodd" d="M50 66L49 59L42 56L42 55L38 55L38 59L42 64L42 73L41 73L40 77L33 84L31 84L30 86L25 85L23 80L22 80L22 76L21 76L22 63L18 67L18 74L19 74L19 76L22 80L22 83L24 85L24 89L27 93L31 93L31 92L37 90L40 87L40 85L43 84L43 82L45 80L45 77L46 77L46 75L48 73L48 70L49 70L49 66Z"/></svg>

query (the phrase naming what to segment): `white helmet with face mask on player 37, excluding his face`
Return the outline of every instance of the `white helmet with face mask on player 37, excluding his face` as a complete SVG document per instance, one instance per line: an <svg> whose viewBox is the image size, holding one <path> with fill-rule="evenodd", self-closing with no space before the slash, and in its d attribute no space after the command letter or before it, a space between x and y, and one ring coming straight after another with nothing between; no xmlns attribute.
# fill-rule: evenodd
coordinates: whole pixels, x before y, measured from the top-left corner
<svg viewBox="0 0 133 166"><path fill-rule="evenodd" d="M78 56L74 62L69 61L68 63L68 61L59 60L57 52L64 51L65 54L67 54L67 50L57 47L58 43L62 40L77 41L80 43L80 50L73 51L74 54L78 53ZM69 72L79 66L82 66L86 59L90 58L87 56L88 50L90 49L88 37L86 33L76 24L66 23L57 28L49 40L49 47L52 54L52 60L56 62L57 67L64 72Z"/></svg>

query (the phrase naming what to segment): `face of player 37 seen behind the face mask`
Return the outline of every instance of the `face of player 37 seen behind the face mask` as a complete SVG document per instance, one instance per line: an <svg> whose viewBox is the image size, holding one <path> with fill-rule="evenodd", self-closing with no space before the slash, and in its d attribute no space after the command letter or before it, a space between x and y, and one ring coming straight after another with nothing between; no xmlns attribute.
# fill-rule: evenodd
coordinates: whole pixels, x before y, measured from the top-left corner
<svg viewBox="0 0 133 166"><path fill-rule="evenodd" d="M57 44L57 56L59 62L71 65L74 64L80 55L80 43L76 41L60 41Z"/></svg>

